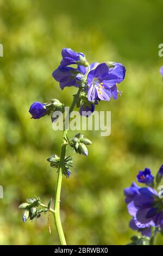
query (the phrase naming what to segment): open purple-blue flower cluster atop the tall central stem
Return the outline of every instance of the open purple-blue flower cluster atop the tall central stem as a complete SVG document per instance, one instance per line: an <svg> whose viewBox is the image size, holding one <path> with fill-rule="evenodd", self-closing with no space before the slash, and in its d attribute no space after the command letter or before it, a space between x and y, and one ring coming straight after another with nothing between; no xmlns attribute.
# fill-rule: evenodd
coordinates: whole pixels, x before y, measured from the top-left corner
<svg viewBox="0 0 163 256"><path fill-rule="evenodd" d="M77 64L77 68L72 68L71 64ZM83 53L64 48L61 63L52 75L61 89L85 85L83 91L87 100L80 103L80 114L84 114L87 111L92 113L100 100L109 101L111 96L116 100L117 84L124 80L125 74L126 69L120 63L95 62L89 65Z"/></svg>

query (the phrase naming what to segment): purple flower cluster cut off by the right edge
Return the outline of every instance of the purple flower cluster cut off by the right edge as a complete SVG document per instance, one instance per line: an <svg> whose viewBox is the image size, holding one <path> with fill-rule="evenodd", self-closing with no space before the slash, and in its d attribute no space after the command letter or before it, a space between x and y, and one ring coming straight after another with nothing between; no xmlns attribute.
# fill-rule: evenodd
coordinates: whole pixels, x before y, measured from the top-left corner
<svg viewBox="0 0 163 256"><path fill-rule="evenodd" d="M162 179L163 166L156 175ZM149 168L140 171L137 181L145 183L148 187L139 187L133 182L130 187L124 189L128 212L132 216L129 223L130 228L141 231L142 235L151 236L151 227L163 230L163 202L159 194L154 190L154 176ZM151 186L149 186L151 185Z"/></svg>

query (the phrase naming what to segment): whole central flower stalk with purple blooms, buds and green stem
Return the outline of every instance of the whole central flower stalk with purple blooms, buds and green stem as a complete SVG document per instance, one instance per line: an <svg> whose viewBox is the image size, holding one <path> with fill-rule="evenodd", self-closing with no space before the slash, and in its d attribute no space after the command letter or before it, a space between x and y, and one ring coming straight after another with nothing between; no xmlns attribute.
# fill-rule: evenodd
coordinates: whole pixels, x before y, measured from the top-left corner
<svg viewBox="0 0 163 256"><path fill-rule="evenodd" d="M61 143L60 157L53 154L48 157L47 161L50 166L58 169L57 185L55 188L54 209L51 208L52 198L47 206L41 203L40 197L28 198L26 203L22 203L19 208L24 210L22 220L26 222L32 221L34 218L41 217L42 214L51 212L54 216L55 227L61 245L66 245L64 231L62 229L60 218L60 194L62 185L62 176L70 177L71 167L73 167L72 156L66 156L66 147L69 145L74 152L80 155L88 155L87 145L92 142L81 133L77 133L73 138L68 138L68 125L70 114L74 107L79 108L80 115L89 117L95 111L95 105L99 101L109 101L111 97L117 99L117 84L124 80L126 69L121 63L105 62L99 64L94 62L89 64L82 52L74 52L70 48L62 49L62 60L56 70L53 71L53 78L59 82L60 88L78 87L78 92L73 96L73 101L65 120L63 121L63 134ZM72 64L76 64L76 68L72 68ZM57 114L57 113L60 114ZM58 99L51 99L46 103L39 101L34 102L29 109L29 113L33 119L40 119L47 115L51 115L52 122L58 121L60 115L65 112L65 104ZM57 114L57 115L55 115ZM49 220L49 215L48 215ZM48 221L49 228L49 221ZM50 228L49 228L50 231Z"/></svg>

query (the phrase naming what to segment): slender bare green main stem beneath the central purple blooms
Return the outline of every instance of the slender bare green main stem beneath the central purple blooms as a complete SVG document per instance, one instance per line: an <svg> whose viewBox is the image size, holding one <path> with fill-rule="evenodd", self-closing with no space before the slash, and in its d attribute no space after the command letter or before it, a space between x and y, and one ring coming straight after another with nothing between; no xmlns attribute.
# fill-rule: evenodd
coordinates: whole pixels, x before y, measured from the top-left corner
<svg viewBox="0 0 163 256"><path fill-rule="evenodd" d="M79 95L80 95L81 91L82 91L82 86L79 87L78 93L74 96L72 105L70 107L68 119L70 119L70 114L73 111L74 106L76 105L76 102L79 99ZM65 162L66 146L67 146L67 142L65 139L66 135L67 135L67 130L65 130L65 125L64 125L64 132L62 135L60 163L59 163L59 168L58 168L57 187L56 187L55 199L54 199L54 212L53 212L55 227L57 228L57 232L58 232L58 236L59 236L61 245L66 245L65 235L64 235L64 231L62 229L62 224L61 224L61 220L60 220L60 192L61 192L62 174L64 172L64 162Z"/></svg>

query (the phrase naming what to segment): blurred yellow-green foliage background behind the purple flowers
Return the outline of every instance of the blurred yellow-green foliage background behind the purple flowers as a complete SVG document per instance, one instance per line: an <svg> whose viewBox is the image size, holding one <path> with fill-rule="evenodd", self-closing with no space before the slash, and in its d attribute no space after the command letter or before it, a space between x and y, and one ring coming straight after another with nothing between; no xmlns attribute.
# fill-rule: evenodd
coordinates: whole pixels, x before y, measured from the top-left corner
<svg viewBox="0 0 163 256"><path fill-rule="evenodd" d="M52 78L63 47L84 52L90 63L121 62L127 69L122 96L96 107L111 111L111 136L84 132L93 142L89 156L74 154L73 175L63 179L67 243L125 245L135 234L123 189L139 170L150 167L155 174L163 162L162 9L161 0L0 0L1 245L59 243L53 216L49 235L46 215L23 223L17 208L34 194L43 203L54 196L56 169L46 159L60 154L62 132L52 130L48 117L30 119L28 109L52 98L70 106L77 89L61 91Z"/></svg>

